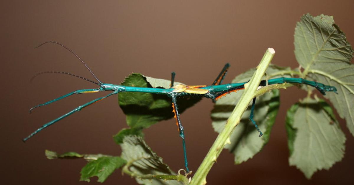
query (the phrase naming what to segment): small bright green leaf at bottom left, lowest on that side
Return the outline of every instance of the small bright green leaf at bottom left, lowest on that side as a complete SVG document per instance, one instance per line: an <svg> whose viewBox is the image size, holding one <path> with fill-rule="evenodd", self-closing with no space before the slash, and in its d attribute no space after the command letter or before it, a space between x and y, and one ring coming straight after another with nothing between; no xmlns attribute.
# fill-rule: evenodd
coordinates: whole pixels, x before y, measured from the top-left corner
<svg viewBox="0 0 354 185"><path fill-rule="evenodd" d="M100 157L95 161L91 161L81 169L81 178L90 182L90 178L97 176L98 182L103 183L113 171L123 166L126 161L120 157Z"/></svg>

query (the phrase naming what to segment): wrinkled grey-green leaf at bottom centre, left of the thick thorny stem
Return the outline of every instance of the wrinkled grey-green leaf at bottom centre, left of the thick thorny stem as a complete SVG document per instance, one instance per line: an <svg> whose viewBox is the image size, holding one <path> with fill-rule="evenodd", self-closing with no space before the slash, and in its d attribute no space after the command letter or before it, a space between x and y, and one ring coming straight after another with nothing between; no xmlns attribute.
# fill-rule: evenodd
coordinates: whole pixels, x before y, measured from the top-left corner
<svg viewBox="0 0 354 185"><path fill-rule="evenodd" d="M121 144L121 157L127 161L129 171L133 177L142 175L175 175L169 166L162 162L145 141L136 135L129 135L123 139ZM178 184L175 180L142 179L137 177L139 184Z"/></svg>

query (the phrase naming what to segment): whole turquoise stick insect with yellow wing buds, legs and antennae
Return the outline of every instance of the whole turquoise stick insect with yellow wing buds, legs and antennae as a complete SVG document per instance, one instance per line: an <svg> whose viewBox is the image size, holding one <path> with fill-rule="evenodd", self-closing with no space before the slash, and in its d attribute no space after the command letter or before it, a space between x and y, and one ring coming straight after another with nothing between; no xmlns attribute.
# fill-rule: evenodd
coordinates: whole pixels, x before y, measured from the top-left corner
<svg viewBox="0 0 354 185"><path fill-rule="evenodd" d="M218 75L218 77L216 78L216 80L210 85L210 86L185 86L185 85L176 85L174 86L174 80L175 80L175 73L172 72L171 75L171 86L168 89L162 89L162 88L146 88L146 87L131 87L131 86L122 86L122 85L115 85L115 84L111 84L111 83L102 83L96 76L95 74L93 74L93 72L91 71L91 69L85 64L85 62L72 50L70 50L68 47L55 42L55 41L48 41L48 42L44 42L41 45L44 45L46 43L55 43L58 44L64 48L66 48L68 51L70 51L71 53L73 53L81 62L82 64L85 65L85 67L90 71L90 73L93 75L93 77L95 77L95 79L97 80L97 82L86 79L84 77L78 76L78 75L74 75L71 73L67 73L67 72L60 72L60 71L45 71L45 72L41 72L36 74L35 76L38 76L40 74L44 74L44 73L61 73L61 74L67 74L67 75L71 75L71 76L75 76L75 77L79 77L81 79L84 79L86 81L90 81L92 83L95 83L96 85L98 85L98 88L95 89L79 89L73 92L70 92L68 94L65 94L64 96L58 97L56 99L50 100L48 102L45 102L43 104L39 104L34 106L33 108L31 108L29 110L29 112L31 113L33 111L33 109L38 108L40 106L44 106L44 105L48 105L51 104L53 102L56 102L58 100L61 100L63 98L66 98L68 96L71 96L73 94L82 94L82 93L94 93L94 92L102 92L102 91L112 91L112 93L94 99L90 102L87 102L83 105L80 105L78 107L76 107L75 109L69 111L68 113L57 117L56 119L42 125L40 128L38 128L36 131L34 131L33 133L31 133L28 137L24 138L23 141L27 141L29 138L33 137L35 134L37 134L38 132L42 131L44 128L62 120L63 118L74 114L77 111L80 111L81 109L85 108L86 106L92 105L95 102L98 102L99 100L102 100L104 98L107 98L109 96L112 96L114 94L118 94L120 92L142 92L142 93L154 93L154 94L164 94L166 96L168 96L169 98L171 98L171 102L172 102L172 109L173 112L175 114L175 118L176 118L176 124L178 126L178 131L179 131L179 136L182 138L182 147L183 147L183 155L184 155L184 166L187 172L189 172L188 169L188 160L187 160L187 152L186 152L186 147L185 147L185 139L184 139L184 128L182 126L182 123L180 121L179 118L179 113L178 113L178 104L177 104L177 97L180 96L204 96L206 98L211 98L212 100L218 100L219 98L223 97L225 94L231 93L231 92L235 92L235 91L239 91L241 89L244 89L244 85L247 82L241 82L241 83L228 83L228 84L221 84L228 68L230 67L229 64L226 64L224 66L224 68L222 69L221 73ZM39 45L38 47L40 47L41 45ZM34 77L35 77L34 76ZM337 93L337 89L336 87L333 86L327 86L324 85L322 83L318 83L315 81L309 81L309 80L305 80L302 78L285 78L285 77L280 77L280 78L276 78L276 79L270 79L270 80L263 80L261 81L261 83L259 84L259 86L267 86L267 85L272 85L272 84L278 84L278 83L302 83L302 84L306 84L312 87L315 87L316 89L318 89L322 94L325 95L326 92L332 91ZM255 102L256 99L253 99L252 102L252 108L251 108L251 113L250 113L250 120L253 123L253 125L255 125L257 131L259 132L259 137L262 136L262 132L259 130L257 123L253 120L253 112L255 109Z"/></svg>

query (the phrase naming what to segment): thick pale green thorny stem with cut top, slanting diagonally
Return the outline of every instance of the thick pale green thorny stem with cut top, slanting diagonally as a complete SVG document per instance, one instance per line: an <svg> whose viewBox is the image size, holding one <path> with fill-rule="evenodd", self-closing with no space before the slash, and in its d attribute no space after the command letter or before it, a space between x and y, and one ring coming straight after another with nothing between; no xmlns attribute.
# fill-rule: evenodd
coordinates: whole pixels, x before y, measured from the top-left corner
<svg viewBox="0 0 354 185"><path fill-rule="evenodd" d="M198 170L192 178L190 184L199 185L206 184L206 176L209 173L211 167L216 162L216 159L220 155L224 146L230 143L230 135L233 129L238 125L241 120L243 112L247 109L251 100L255 96L255 92L258 88L259 82L268 68L270 61L272 60L275 51L273 48L268 48L265 52L261 62L259 63L256 72L253 74L249 83L245 84L245 91L242 94L240 101L235 106L231 116L228 118L227 123L223 131L218 135L215 142L211 146L208 154L205 156L203 162L200 164Z"/></svg>

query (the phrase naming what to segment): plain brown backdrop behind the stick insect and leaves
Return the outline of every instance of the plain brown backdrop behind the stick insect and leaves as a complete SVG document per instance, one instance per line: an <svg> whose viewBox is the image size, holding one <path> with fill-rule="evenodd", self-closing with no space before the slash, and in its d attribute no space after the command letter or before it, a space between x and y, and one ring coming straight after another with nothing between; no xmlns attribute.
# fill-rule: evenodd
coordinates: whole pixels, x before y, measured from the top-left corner
<svg viewBox="0 0 354 185"><path fill-rule="evenodd" d="M306 5L305 5L306 4ZM189 85L210 84L227 62L225 82L256 67L268 47L274 64L298 66L293 54L296 22L309 12L333 15L354 43L354 1L13 1L1 2L1 184L87 184L79 182L84 160L47 160L45 149L58 152L119 155L112 135L126 127L125 116L110 97L56 123L22 143L42 124L104 93L72 96L37 109L75 89L95 88L66 75L42 75L46 70L68 71L93 79L59 41L76 51L104 82L120 83L131 72ZM312 180L289 167L285 113L306 95L296 88L281 91L280 111L269 143L240 165L223 151L207 177L208 184L349 184L354 166L354 139L344 121L346 154L330 170ZM217 134L211 127L213 103L204 99L181 115L190 169L196 170ZM255 136L257 137L257 136ZM181 138L175 121L145 131L148 145L177 171L183 167ZM99 184L93 178L91 184ZM117 170L105 184L135 184Z"/></svg>

